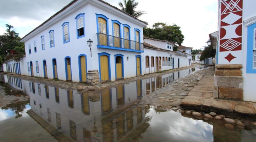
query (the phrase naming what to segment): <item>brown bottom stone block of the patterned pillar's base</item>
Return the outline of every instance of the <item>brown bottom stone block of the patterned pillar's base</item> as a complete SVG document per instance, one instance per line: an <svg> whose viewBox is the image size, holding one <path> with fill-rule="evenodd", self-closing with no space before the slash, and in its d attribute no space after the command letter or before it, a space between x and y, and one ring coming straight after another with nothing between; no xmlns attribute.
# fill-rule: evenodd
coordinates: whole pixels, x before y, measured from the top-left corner
<svg viewBox="0 0 256 142"><path fill-rule="evenodd" d="M240 88L219 87L219 98L235 101L243 101L244 90Z"/></svg>

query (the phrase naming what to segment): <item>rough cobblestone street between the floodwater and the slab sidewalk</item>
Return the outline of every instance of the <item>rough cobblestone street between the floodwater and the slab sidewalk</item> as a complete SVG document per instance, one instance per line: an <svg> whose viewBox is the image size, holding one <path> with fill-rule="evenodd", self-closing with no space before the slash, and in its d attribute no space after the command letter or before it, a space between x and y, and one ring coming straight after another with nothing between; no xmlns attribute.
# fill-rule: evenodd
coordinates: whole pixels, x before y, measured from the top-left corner
<svg viewBox="0 0 256 142"><path fill-rule="evenodd" d="M172 83L147 94L142 101L150 105L162 106L163 108L180 106L181 101L208 72L214 72L213 67L198 70L186 75L184 78L176 79Z"/></svg>

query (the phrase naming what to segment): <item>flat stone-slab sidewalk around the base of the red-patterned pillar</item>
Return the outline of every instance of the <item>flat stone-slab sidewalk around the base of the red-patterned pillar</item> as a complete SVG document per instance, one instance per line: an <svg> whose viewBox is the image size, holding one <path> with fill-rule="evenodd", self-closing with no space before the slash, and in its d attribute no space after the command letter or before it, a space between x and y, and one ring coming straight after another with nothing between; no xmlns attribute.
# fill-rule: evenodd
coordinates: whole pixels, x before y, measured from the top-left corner
<svg viewBox="0 0 256 142"><path fill-rule="evenodd" d="M209 70L191 89L182 101L182 106L198 109L216 109L225 112L235 112L239 115L255 116L256 103L249 101L228 101L214 99L214 70Z"/></svg>

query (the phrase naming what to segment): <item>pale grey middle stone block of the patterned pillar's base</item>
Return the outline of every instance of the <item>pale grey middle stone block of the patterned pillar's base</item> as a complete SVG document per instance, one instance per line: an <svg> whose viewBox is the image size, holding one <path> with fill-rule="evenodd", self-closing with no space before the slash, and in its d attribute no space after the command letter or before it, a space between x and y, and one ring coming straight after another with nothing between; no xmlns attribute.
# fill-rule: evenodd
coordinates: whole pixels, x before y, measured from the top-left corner
<svg viewBox="0 0 256 142"><path fill-rule="evenodd" d="M214 75L214 86L243 89L243 77Z"/></svg>

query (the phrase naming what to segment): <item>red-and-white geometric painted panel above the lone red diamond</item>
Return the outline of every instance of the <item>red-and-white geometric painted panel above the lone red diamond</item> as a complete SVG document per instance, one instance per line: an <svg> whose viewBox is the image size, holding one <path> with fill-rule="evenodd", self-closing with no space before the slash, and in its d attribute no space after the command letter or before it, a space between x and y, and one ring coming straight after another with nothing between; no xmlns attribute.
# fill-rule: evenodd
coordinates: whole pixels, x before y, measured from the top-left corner
<svg viewBox="0 0 256 142"><path fill-rule="evenodd" d="M242 16L243 0L220 0L220 52L242 50Z"/></svg>

